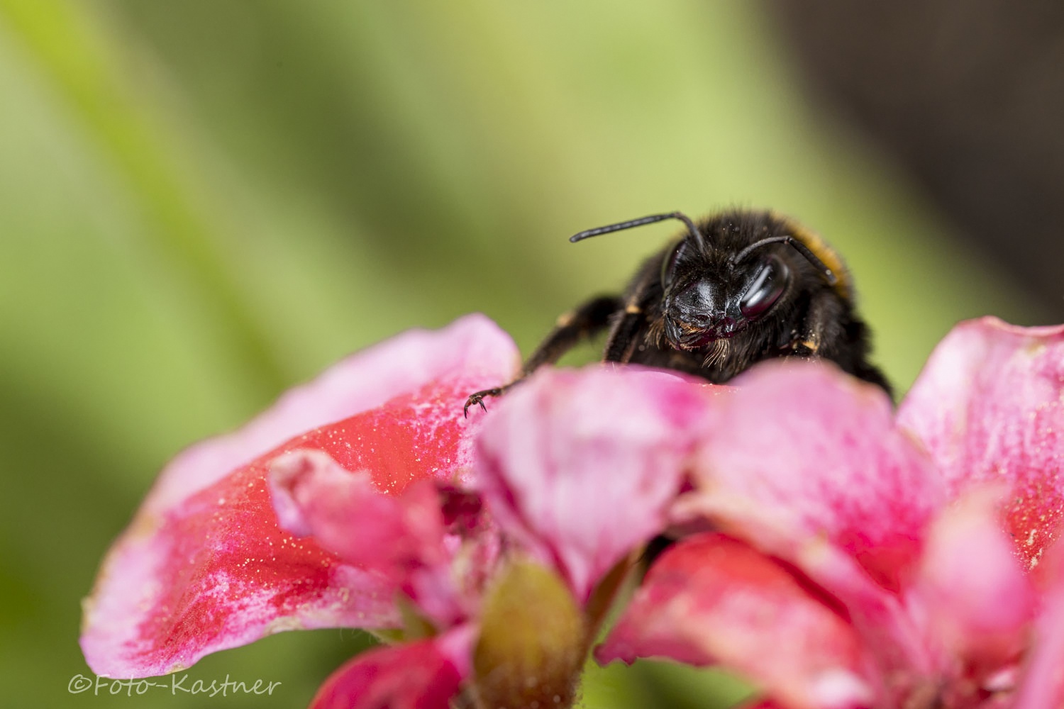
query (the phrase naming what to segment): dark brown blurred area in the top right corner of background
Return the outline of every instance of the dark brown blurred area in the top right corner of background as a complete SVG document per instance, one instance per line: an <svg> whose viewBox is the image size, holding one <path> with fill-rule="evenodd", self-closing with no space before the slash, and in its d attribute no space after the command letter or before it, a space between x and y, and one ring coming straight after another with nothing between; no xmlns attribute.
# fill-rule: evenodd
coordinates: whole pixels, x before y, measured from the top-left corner
<svg viewBox="0 0 1064 709"><path fill-rule="evenodd" d="M1064 318L1064 3L772 0L812 89Z"/></svg>

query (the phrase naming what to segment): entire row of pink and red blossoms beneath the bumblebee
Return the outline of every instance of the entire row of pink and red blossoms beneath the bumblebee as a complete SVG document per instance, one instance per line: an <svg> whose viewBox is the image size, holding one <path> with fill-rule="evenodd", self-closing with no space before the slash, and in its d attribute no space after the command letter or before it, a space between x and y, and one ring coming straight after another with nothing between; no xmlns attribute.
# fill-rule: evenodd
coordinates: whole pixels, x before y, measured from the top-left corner
<svg viewBox="0 0 1064 709"><path fill-rule="evenodd" d="M639 368L516 371L479 317L409 333L172 462L86 603L100 674L297 627L397 629L322 707L568 706L600 660L720 663L787 707L1064 700L1064 328L982 321L895 418L776 364L731 391ZM395 637L395 634L393 634Z"/></svg>

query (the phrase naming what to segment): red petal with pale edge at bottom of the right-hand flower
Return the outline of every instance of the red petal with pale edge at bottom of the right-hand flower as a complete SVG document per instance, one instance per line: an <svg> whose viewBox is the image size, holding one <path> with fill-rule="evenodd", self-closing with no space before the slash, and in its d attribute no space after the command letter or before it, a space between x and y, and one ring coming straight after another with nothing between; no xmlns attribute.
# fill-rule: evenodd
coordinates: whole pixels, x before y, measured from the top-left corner
<svg viewBox="0 0 1064 709"><path fill-rule="evenodd" d="M853 628L808 581L718 534L669 547L605 643L600 662L669 657L720 663L788 707L868 706Z"/></svg>

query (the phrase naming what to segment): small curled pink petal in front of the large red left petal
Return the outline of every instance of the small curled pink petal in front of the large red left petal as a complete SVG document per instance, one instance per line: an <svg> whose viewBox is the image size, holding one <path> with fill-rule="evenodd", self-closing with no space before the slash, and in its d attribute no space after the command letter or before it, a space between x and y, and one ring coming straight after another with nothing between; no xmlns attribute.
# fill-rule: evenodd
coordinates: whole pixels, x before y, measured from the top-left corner
<svg viewBox="0 0 1064 709"><path fill-rule="evenodd" d="M320 451L294 451L273 461L269 486L282 528L387 578L445 626L462 617L431 482L384 494L365 472L345 470Z"/></svg>

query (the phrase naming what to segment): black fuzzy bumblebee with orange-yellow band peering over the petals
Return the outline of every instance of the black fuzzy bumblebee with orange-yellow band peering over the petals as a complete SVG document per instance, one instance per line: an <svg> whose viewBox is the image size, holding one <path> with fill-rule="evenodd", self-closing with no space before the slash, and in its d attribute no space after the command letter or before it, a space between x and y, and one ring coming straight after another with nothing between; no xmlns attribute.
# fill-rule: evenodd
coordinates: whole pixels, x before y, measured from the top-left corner
<svg viewBox="0 0 1064 709"><path fill-rule="evenodd" d="M695 223L680 212L592 229L572 242L682 221L686 231L647 259L621 296L599 296L559 318L520 376L478 391L484 407L584 338L608 330L604 361L675 369L714 384L774 357L819 357L891 394L868 361L868 326L858 316L842 258L815 233L771 212L730 210Z"/></svg>

